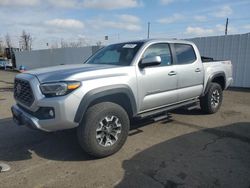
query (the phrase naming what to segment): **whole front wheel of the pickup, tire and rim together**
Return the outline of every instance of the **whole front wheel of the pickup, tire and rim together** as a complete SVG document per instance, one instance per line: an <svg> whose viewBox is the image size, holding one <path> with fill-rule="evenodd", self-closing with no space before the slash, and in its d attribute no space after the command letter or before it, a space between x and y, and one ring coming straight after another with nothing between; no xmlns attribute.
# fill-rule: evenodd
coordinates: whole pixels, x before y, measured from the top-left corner
<svg viewBox="0 0 250 188"><path fill-rule="evenodd" d="M128 115L120 105L98 103L88 108L77 129L78 140L86 153L106 157L124 145L129 127Z"/></svg>

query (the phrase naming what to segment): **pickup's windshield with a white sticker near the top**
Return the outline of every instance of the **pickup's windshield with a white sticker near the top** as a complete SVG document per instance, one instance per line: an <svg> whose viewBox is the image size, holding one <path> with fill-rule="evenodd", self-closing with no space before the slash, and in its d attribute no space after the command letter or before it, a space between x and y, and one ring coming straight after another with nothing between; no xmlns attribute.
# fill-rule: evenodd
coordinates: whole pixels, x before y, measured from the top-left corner
<svg viewBox="0 0 250 188"><path fill-rule="evenodd" d="M87 64L129 66L143 42L112 44L99 50Z"/></svg>

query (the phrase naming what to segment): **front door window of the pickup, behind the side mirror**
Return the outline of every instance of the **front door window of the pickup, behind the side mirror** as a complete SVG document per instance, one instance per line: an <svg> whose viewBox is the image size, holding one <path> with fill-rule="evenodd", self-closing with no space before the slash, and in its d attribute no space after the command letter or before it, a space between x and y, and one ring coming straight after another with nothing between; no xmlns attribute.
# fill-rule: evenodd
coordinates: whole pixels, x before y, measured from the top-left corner
<svg viewBox="0 0 250 188"><path fill-rule="evenodd" d="M143 54L143 58L154 56L161 57L161 66L172 64L172 58L168 44L153 44L149 46Z"/></svg>

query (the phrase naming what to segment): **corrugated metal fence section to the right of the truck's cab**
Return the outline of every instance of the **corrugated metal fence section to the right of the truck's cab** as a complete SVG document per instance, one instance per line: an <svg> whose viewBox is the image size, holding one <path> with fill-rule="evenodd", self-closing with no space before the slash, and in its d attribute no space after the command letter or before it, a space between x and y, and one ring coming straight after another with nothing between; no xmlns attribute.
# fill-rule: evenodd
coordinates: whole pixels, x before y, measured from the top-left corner
<svg viewBox="0 0 250 188"><path fill-rule="evenodd" d="M231 60L235 87L250 87L250 33L188 39L202 56Z"/></svg>

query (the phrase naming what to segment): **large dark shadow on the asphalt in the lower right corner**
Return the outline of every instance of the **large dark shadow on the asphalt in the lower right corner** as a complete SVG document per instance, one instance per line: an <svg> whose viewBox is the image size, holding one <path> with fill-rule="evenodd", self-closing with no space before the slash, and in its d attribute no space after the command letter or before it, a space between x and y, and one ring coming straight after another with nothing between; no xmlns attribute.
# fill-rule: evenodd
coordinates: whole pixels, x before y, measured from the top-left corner
<svg viewBox="0 0 250 188"><path fill-rule="evenodd" d="M249 156L250 122L197 127L197 132L154 145L124 161L125 175L116 187L249 187Z"/></svg>

